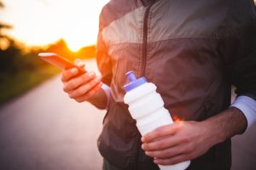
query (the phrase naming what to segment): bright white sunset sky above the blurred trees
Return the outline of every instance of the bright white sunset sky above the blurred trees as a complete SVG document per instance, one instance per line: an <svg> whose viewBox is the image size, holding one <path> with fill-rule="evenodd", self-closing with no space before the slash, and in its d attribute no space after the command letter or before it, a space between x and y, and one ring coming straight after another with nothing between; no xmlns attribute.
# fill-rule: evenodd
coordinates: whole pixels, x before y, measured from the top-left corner
<svg viewBox="0 0 256 170"><path fill-rule="evenodd" d="M28 46L63 38L73 51L95 44L98 18L108 0L3 0L0 20L11 37Z"/></svg>

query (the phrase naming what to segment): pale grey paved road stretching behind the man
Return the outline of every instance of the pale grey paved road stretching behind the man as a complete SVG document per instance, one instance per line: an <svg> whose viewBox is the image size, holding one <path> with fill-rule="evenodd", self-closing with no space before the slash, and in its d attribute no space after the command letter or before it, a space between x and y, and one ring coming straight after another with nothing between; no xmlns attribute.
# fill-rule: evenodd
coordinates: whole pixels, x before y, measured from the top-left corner
<svg viewBox="0 0 256 170"><path fill-rule="evenodd" d="M96 71L94 60L87 69ZM78 104L60 76L0 109L0 170L100 170L96 139L105 111ZM232 170L256 169L256 126L233 139Z"/></svg>

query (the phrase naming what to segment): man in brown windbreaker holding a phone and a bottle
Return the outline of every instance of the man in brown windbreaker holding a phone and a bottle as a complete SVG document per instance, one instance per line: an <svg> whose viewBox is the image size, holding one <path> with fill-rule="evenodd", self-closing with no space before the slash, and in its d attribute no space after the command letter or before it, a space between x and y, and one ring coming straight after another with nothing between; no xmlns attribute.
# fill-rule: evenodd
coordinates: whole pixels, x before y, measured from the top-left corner
<svg viewBox="0 0 256 170"><path fill-rule="evenodd" d="M104 169L230 169L230 138L256 121L256 15L252 0L113 0L97 42L102 77L63 71L64 91L108 109L98 148ZM84 67L84 63L77 61ZM154 82L171 125L141 137L123 98L125 72ZM230 87L236 101L230 105ZM110 88L108 88L110 87Z"/></svg>

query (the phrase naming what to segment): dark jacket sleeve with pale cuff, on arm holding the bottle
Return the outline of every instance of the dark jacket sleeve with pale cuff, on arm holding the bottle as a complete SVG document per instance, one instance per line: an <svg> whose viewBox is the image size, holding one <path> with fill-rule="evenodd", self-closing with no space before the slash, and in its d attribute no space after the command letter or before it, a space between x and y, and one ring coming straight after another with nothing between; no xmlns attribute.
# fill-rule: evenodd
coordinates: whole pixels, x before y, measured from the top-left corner
<svg viewBox="0 0 256 170"><path fill-rule="evenodd" d="M256 122L256 8L251 9L244 10L242 25L230 28L224 43L226 69L237 94L231 106L242 111L247 129Z"/></svg>

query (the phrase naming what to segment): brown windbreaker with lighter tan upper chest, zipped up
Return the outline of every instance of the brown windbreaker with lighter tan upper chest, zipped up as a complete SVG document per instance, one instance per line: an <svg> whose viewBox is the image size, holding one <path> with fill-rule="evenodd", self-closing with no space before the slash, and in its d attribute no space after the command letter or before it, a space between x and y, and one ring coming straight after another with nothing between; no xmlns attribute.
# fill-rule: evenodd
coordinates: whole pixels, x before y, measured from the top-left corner
<svg viewBox="0 0 256 170"><path fill-rule="evenodd" d="M111 88L98 149L114 167L159 169L141 149L124 104L125 73L157 86L173 119L203 121L236 94L256 99L253 0L112 0L100 15L96 59ZM230 169L230 139L192 160L189 169Z"/></svg>

